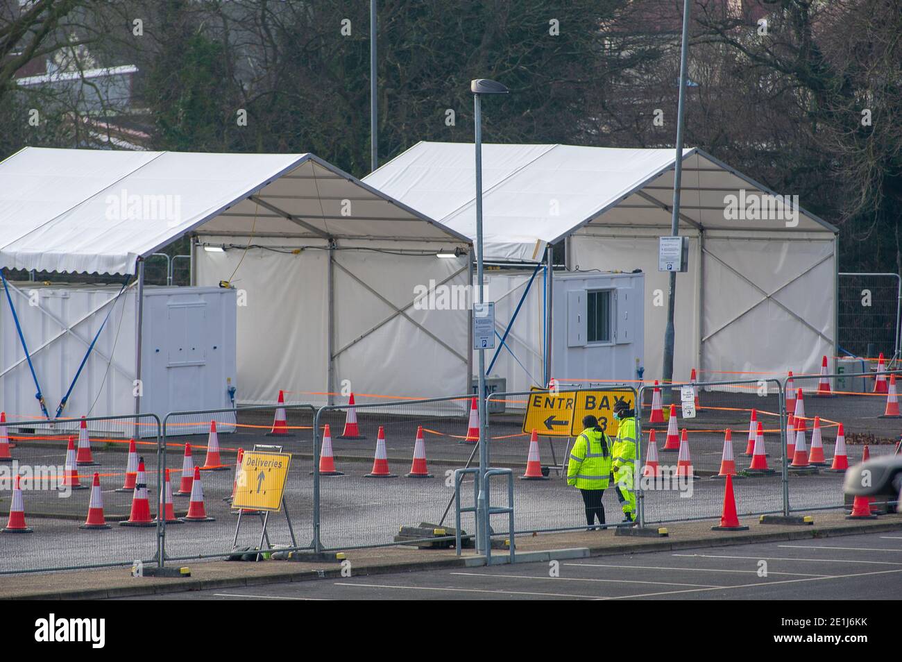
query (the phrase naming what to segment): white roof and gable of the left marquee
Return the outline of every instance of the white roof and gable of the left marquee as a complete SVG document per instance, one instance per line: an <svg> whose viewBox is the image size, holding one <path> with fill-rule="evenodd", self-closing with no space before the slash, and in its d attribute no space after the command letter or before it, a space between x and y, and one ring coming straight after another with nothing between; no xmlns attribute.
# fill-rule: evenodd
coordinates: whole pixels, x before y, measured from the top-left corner
<svg viewBox="0 0 902 662"><path fill-rule="evenodd" d="M0 267L133 273L192 230L469 243L313 154L26 147L0 162Z"/></svg>

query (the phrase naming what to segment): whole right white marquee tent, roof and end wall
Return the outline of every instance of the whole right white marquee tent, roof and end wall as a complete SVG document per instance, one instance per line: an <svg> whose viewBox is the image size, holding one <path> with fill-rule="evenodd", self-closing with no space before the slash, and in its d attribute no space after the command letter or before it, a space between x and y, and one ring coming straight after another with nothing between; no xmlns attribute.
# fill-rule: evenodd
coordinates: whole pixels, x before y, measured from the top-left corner
<svg viewBox="0 0 902 662"><path fill-rule="evenodd" d="M662 369L658 236L670 234L675 161L673 150L483 145L485 259L538 262L564 241L570 271L645 271L647 382ZM418 143L364 181L474 237L473 144ZM769 220L725 212L728 196L775 195L701 150L684 151L689 269L676 277L675 379L695 366L709 380L816 372L822 355L835 355L837 229L797 202Z"/></svg>

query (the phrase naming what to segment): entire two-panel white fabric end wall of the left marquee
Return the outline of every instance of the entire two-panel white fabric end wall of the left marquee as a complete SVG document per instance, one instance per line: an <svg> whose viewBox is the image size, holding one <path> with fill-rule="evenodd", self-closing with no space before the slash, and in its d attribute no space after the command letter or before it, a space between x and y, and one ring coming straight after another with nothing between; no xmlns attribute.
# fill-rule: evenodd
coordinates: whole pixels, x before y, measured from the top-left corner
<svg viewBox="0 0 902 662"><path fill-rule="evenodd" d="M238 246L248 241L221 235L198 239L202 244ZM417 285L428 287L430 280L465 285L465 257L436 255L447 249L447 243L338 243L332 251L336 263L331 391L328 244L273 237L253 238L253 244L272 250L248 249L236 272L243 248L228 248L225 253L198 250L195 262L198 284L228 280L235 272L235 287L246 292L246 306L238 308L239 402L272 402L280 390L290 391L287 400L316 403L325 403L328 392L348 388L364 399L466 392L469 312L414 307ZM402 254L403 249L423 254Z"/></svg>

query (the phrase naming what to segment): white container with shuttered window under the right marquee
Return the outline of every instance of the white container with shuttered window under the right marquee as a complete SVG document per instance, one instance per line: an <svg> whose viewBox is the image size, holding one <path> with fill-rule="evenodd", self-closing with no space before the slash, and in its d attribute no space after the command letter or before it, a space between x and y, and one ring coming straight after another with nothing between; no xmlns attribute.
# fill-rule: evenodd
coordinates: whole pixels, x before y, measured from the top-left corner
<svg viewBox="0 0 902 662"><path fill-rule="evenodd" d="M495 326L503 336L531 271L490 271L485 300L495 302ZM552 293L551 375L564 384L637 380L643 365L643 273L555 272ZM488 371L508 391L544 385L544 281L541 272ZM495 346L501 347L496 337ZM496 351L486 353L486 368ZM474 353L474 366L478 365ZM509 407L513 407L509 403Z"/></svg>

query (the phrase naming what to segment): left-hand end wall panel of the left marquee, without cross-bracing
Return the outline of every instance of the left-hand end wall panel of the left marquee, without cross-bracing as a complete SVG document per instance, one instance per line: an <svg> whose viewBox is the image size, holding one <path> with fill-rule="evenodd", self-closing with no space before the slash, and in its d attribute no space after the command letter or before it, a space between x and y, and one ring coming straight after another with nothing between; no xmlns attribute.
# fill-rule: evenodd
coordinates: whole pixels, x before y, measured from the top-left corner
<svg viewBox="0 0 902 662"><path fill-rule="evenodd" d="M246 236L201 240L248 243ZM233 280L238 290L235 400L241 404L272 403L280 390L290 391L292 402L326 401L328 254L319 250L326 244L305 241L318 248L292 253L292 243L301 245L256 237L253 244L268 248L196 252L198 285Z"/></svg>

